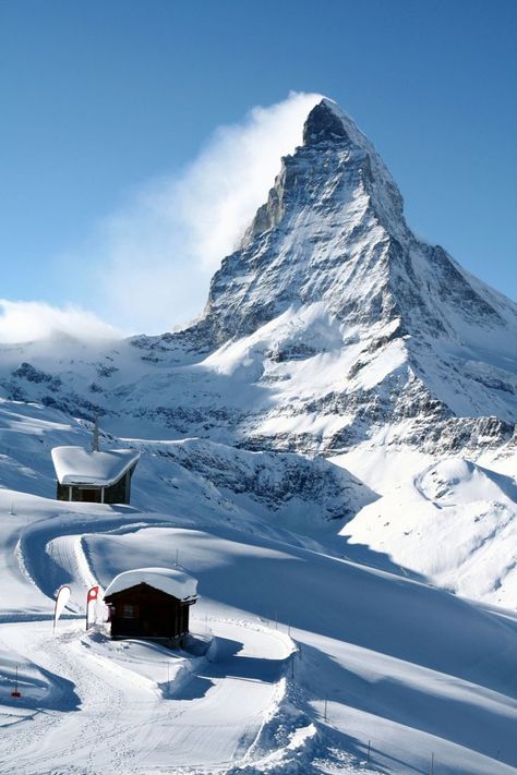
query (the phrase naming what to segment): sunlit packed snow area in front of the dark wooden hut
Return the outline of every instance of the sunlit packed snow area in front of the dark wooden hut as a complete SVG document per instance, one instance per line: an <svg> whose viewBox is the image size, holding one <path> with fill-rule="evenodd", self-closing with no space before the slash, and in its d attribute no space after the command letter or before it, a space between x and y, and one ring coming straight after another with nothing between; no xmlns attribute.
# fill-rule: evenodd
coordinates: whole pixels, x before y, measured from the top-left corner
<svg viewBox="0 0 517 775"><path fill-rule="evenodd" d="M176 693L172 685L164 700L165 650L163 661L154 663L153 681L88 653L77 622L61 629L52 638L49 621L0 626L0 647L61 682L56 706L46 713L19 710L19 723L0 714L0 773L226 770L247 756L281 695L289 647L275 632L216 622L214 655L200 659L199 669L180 679ZM26 734L20 734L20 724Z"/></svg>

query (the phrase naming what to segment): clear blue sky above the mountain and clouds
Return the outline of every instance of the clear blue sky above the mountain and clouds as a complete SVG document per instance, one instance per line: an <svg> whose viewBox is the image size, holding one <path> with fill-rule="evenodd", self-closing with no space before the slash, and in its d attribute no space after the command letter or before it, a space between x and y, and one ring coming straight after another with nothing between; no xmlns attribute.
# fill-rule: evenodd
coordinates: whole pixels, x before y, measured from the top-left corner
<svg viewBox="0 0 517 775"><path fill-rule="evenodd" d="M117 324L96 292L106 223L181 180L217 126L296 90L336 99L417 233L515 299L516 34L514 0L0 3L0 296ZM149 317L135 302L123 327L190 312L171 306Z"/></svg>

